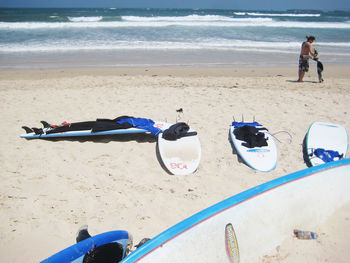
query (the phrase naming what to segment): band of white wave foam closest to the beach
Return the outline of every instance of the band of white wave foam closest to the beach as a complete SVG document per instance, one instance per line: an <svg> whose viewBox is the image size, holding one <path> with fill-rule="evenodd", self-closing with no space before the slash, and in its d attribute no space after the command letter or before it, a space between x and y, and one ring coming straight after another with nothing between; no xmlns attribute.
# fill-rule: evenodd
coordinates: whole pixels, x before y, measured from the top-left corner
<svg viewBox="0 0 350 263"><path fill-rule="evenodd" d="M350 43L318 43L318 47L345 48L350 47ZM249 40L223 40L223 39L203 39L202 41L108 41L108 40L82 40L82 41L58 41L55 43L32 42L17 44L2 44L0 52L38 52L38 51L69 51L69 50L251 50L269 51L282 53L298 53L299 42L267 42ZM348 53L350 55L350 53Z"/></svg>

